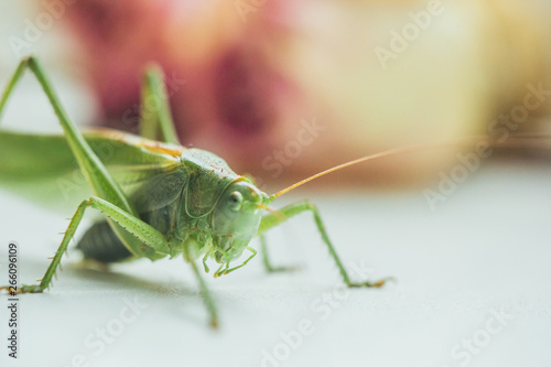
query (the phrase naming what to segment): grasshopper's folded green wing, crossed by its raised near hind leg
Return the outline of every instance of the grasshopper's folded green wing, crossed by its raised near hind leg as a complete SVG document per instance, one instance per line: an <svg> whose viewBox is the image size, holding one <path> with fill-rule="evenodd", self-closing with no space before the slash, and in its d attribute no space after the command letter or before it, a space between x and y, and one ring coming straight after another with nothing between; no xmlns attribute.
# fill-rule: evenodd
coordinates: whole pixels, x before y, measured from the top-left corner
<svg viewBox="0 0 551 367"><path fill-rule="evenodd" d="M90 148L138 212L162 207L187 181L180 159L118 131L84 133ZM76 207L91 195L63 136L0 131L0 187L54 209Z"/></svg>

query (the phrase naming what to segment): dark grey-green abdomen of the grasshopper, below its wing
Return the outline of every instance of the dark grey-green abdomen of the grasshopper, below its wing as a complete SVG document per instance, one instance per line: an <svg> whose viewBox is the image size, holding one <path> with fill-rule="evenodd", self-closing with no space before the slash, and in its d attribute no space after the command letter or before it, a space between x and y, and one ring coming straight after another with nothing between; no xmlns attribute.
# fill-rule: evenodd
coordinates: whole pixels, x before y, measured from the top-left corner
<svg viewBox="0 0 551 367"><path fill-rule="evenodd" d="M94 224L76 247L85 258L100 262L122 261L132 256L107 222Z"/></svg>

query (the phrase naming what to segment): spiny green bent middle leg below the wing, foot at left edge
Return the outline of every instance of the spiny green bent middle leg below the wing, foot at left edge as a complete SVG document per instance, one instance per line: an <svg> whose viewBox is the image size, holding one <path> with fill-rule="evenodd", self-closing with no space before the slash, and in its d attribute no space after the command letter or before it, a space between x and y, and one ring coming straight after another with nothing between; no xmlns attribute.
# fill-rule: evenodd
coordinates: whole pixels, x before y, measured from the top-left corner
<svg viewBox="0 0 551 367"><path fill-rule="evenodd" d="M109 202L106 202L98 197L90 197L78 206L75 215L71 219L69 226L63 236L62 244L60 248L55 252L55 256L50 263L44 277L42 278L40 284L34 285L22 285L21 290L18 293L37 293L50 287L52 282L52 277L55 274L57 267L62 260L63 253L66 252L67 246L75 235L76 228L80 223L80 219L84 216L84 213L87 207L93 207L104 213L107 217L112 219L115 223L120 225L128 234L132 235L137 238L141 244L150 247L158 253L170 255L170 245L164 238L164 236L151 227L147 223L133 217L132 215L123 212L119 207L112 205ZM0 289L8 289L8 287L1 287Z"/></svg>

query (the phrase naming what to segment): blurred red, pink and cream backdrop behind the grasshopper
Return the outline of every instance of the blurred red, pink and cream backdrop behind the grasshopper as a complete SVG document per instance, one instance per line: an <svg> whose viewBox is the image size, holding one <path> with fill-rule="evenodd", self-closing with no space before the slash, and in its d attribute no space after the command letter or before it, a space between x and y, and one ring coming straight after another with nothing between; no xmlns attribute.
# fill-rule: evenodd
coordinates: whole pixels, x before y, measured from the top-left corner
<svg viewBox="0 0 551 367"><path fill-rule="evenodd" d="M3 79L34 53L78 90L78 108L67 106L78 123L137 132L141 73L156 62L182 142L270 188L389 148L548 131L545 0L50 0L0 10ZM456 149L402 155L323 184L426 183L455 163Z"/></svg>

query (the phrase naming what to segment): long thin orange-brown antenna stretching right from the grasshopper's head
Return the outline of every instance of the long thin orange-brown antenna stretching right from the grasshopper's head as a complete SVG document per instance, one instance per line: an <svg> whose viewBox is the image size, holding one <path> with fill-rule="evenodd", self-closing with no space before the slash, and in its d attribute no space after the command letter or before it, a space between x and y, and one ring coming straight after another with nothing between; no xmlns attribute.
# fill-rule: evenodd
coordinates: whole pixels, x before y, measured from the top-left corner
<svg viewBox="0 0 551 367"><path fill-rule="evenodd" d="M366 161L371 161L371 160L376 160L376 159L379 159L379 158L385 158L385 156L390 156L390 155L398 155L398 154L403 154L403 153L413 153L413 152L419 152L419 151L426 151L426 150L433 150L433 149L445 149L445 148L458 148L458 147L462 147L462 145L472 145L472 144L475 144L475 143L479 143L479 142L487 142L490 147L495 147L495 145L499 145L499 147L503 147L503 145L507 145L507 147L526 147L526 141L525 141L525 144L522 144L522 140L533 140L534 138L551 138L551 136L545 136L545 134L538 134L538 136L531 136L531 134L520 134L518 138L515 138L515 137L511 137L503 142L499 142L496 140L496 138L493 138L493 137L487 137L487 136L479 136L479 137L469 137L469 138L463 138L463 139L458 139L458 140L454 140L453 142L441 142L441 143L434 143L434 144L415 144L415 145L409 145L409 147L402 147L402 148L395 148L395 149L390 149L390 150L386 150L383 152L380 152L380 153L375 153L375 154L370 154L370 155L366 155L366 156L363 156L363 158L358 158L357 160L354 160L354 161L349 161L349 162L346 162L346 163L343 163L343 164L339 164L339 165L336 165L332 169L328 169L328 170L325 170L325 171L322 171L320 173L316 173L307 179L304 179L302 181L299 181L294 184L292 184L291 186L289 187L285 187L281 191L279 191L278 193L273 194L270 196L271 199L274 199L276 197L279 197L283 194L287 194L288 192L290 192L291 190L293 188L296 188L303 184L305 184L306 182L310 182L312 180L315 180L317 177L321 177L323 175L326 175L328 173L332 173L332 172L335 172L335 171L338 171L338 170L342 170L342 169L345 169L347 166L350 166L350 165L354 165L354 164L358 164L358 163L361 163L361 162L366 162Z"/></svg>

